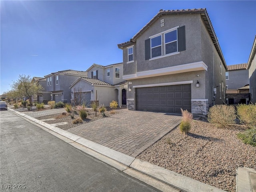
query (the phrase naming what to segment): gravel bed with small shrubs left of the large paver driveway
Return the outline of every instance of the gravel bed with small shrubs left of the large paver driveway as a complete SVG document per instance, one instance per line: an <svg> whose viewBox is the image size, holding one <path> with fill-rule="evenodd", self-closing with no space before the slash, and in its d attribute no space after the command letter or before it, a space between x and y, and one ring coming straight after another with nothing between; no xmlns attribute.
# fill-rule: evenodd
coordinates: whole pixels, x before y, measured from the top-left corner
<svg viewBox="0 0 256 192"><path fill-rule="evenodd" d="M70 128L81 126L83 124L90 123L90 122L93 122L93 121L96 121L96 120L100 120L102 118L108 118L112 115L120 114L120 113L123 112L123 110L118 109L118 110L114 110L114 112L106 111L105 112L106 117L103 117L100 112L97 112L97 116L95 116L95 112L92 109L88 109L88 112L89 112L89 114L88 114L87 118L82 122L82 124L81 123L78 123L78 124L73 124L72 123L75 119L80 118L79 114L75 114L74 112L66 113L66 114L59 113L59 114L54 114L54 115L42 116L42 117L38 117L36 119L38 119L38 120L50 119L50 118L55 119L55 120L50 120L50 121L44 121L48 124L67 122L68 124L58 125L56 127L61 128L63 130L68 130ZM73 114L74 118L71 118L70 114Z"/></svg>

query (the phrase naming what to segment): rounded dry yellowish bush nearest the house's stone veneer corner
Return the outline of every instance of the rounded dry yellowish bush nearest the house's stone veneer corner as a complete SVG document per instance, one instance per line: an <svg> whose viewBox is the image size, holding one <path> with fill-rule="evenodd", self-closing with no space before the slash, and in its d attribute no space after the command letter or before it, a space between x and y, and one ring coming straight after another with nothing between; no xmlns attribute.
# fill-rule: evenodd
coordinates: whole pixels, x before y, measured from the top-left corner
<svg viewBox="0 0 256 192"><path fill-rule="evenodd" d="M208 121L217 127L226 128L228 125L235 124L236 111L234 106L214 105L209 109Z"/></svg>

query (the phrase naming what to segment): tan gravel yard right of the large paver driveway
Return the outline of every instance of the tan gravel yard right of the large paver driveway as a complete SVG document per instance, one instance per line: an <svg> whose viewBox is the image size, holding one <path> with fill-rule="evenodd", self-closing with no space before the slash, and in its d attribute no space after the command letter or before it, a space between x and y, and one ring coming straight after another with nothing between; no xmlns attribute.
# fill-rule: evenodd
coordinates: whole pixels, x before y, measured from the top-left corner
<svg viewBox="0 0 256 192"><path fill-rule="evenodd" d="M174 128L137 158L200 182L236 191L236 168L256 169L256 148L237 138L242 125L216 128L206 120L193 120L188 135Z"/></svg>

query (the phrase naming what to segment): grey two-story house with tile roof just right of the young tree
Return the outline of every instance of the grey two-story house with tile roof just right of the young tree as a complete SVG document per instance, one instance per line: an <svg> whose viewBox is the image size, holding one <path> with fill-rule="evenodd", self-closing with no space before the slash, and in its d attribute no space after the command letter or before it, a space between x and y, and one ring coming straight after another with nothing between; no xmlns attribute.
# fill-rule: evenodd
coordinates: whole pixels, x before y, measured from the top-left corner
<svg viewBox="0 0 256 192"><path fill-rule="evenodd" d="M44 76L46 78L46 91L51 92L51 100L55 102L71 102L70 85L78 78L87 78L86 71L63 70Z"/></svg>

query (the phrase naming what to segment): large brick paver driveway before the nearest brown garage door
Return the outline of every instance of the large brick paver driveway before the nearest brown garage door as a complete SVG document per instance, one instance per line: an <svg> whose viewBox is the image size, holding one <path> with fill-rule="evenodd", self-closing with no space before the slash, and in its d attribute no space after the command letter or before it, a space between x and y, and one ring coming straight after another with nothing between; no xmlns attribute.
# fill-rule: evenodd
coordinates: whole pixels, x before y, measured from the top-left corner
<svg viewBox="0 0 256 192"><path fill-rule="evenodd" d="M181 121L181 116L165 113L124 111L67 131L136 157Z"/></svg>

